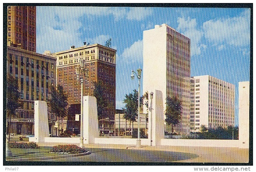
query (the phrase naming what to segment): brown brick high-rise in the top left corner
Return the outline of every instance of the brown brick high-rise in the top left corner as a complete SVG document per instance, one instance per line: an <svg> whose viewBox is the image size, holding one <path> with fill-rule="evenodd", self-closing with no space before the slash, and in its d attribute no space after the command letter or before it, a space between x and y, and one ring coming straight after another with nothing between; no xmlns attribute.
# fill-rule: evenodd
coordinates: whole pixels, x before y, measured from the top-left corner
<svg viewBox="0 0 256 172"><path fill-rule="evenodd" d="M36 52L36 7L8 6L7 41Z"/></svg>

